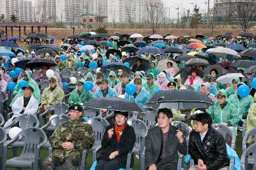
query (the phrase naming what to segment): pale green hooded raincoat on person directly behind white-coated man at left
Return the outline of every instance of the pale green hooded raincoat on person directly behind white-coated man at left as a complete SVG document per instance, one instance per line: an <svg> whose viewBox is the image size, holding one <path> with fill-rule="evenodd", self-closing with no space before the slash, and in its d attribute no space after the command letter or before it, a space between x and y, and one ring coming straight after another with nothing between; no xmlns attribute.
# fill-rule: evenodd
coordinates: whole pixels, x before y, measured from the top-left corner
<svg viewBox="0 0 256 170"><path fill-rule="evenodd" d="M35 97L36 101L38 101L38 103L40 103L40 89L36 83L35 80L33 80L32 76L32 71L25 71L26 74L28 75L28 85L31 86L34 89L33 92L33 96ZM23 90L19 88L19 82L24 80L23 78L20 79L17 83L17 85L15 86L15 89L13 90L13 96L15 96L12 100L12 103L15 101L15 99L19 96L23 95ZM10 106L12 106L12 103L10 104Z"/></svg>

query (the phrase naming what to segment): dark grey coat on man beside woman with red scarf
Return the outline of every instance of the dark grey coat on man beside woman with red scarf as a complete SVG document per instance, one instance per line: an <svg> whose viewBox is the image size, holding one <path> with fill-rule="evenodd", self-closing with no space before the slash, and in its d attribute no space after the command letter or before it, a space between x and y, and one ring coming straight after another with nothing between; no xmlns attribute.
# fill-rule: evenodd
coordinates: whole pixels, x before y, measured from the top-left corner
<svg viewBox="0 0 256 170"><path fill-rule="evenodd" d="M177 169L178 151L186 155L188 145L186 144L186 139L184 139L183 143L179 143L179 139L175 135L176 130L173 125L170 125L164 159L160 162L157 162L157 160L161 152L161 143L163 141L161 128L156 126L148 130L145 141L145 169L152 164L156 164L157 169L161 169L167 164L170 169Z"/></svg>

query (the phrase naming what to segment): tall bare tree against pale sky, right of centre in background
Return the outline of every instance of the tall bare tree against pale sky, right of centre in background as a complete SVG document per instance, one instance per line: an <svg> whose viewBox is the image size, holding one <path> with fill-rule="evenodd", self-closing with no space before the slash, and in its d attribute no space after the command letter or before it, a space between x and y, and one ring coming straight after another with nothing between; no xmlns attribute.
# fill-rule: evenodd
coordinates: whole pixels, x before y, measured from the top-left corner
<svg viewBox="0 0 256 170"><path fill-rule="evenodd" d="M152 29L153 34L155 34L159 26L160 20L163 19L163 2L160 0L148 0L147 11L150 27Z"/></svg>

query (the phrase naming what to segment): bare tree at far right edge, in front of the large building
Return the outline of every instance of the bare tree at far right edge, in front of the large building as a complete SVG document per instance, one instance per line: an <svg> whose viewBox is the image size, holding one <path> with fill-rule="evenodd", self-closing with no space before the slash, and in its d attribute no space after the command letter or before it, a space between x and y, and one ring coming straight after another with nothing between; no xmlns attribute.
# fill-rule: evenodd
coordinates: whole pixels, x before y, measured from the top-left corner
<svg viewBox="0 0 256 170"><path fill-rule="evenodd" d="M255 10L255 5L252 5L251 3L237 3L236 18L244 32L252 27L255 18Z"/></svg>

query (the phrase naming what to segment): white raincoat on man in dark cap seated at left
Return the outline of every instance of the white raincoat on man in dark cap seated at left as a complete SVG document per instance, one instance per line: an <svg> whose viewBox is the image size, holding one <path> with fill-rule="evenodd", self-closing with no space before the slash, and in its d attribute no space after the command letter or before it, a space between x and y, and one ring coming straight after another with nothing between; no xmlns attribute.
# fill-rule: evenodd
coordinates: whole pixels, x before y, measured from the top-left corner
<svg viewBox="0 0 256 170"><path fill-rule="evenodd" d="M23 104L24 104L24 96L17 97L17 99L12 104L13 116L17 117L20 115L20 112L23 109ZM24 110L23 114L34 115L37 110L38 110L38 101L32 95L29 99L28 106L26 107L26 110Z"/></svg>

